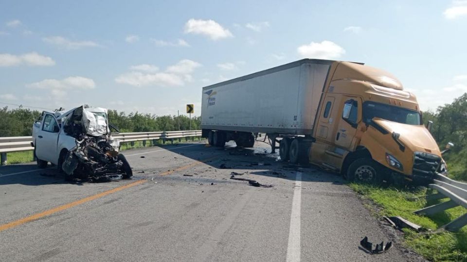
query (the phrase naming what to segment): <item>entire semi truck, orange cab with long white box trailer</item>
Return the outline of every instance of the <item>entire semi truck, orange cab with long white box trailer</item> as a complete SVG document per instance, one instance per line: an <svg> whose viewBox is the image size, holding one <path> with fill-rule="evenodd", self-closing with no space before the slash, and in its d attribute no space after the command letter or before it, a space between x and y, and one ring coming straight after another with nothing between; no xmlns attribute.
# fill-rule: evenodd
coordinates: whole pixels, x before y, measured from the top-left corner
<svg viewBox="0 0 467 262"><path fill-rule="evenodd" d="M349 180L427 184L446 173L413 93L362 63L302 59L202 88L202 137L253 147L266 133L282 161ZM265 140L266 141L266 140ZM452 144L446 147L449 149Z"/></svg>

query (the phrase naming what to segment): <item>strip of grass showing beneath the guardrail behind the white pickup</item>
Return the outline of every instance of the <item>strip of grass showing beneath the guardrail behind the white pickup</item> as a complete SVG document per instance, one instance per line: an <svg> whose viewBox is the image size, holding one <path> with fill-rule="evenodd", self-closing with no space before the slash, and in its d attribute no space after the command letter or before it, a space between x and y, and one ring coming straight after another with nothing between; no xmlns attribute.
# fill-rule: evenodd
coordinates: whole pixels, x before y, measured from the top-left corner
<svg viewBox="0 0 467 262"><path fill-rule="evenodd" d="M201 141L203 138L200 137L195 137L194 141ZM181 138L181 142L190 142L192 141L191 138L185 137ZM163 141L162 140L156 140L153 143L152 140L147 140L144 146L143 141L135 141L133 145L131 145L131 142L123 142L120 144L120 150L124 151L127 149L133 149L133 148L143 148L143 147L152 147L152 146L163 146ZM179 144L178 139L174 139L174 145ZM165 142L165 145L171 145L171 141L168 140ZM33 162L33 151L20 151L20 152L10 152L6 154L7 157L7 164L20 164L20 163L29 163Z"/></svg>

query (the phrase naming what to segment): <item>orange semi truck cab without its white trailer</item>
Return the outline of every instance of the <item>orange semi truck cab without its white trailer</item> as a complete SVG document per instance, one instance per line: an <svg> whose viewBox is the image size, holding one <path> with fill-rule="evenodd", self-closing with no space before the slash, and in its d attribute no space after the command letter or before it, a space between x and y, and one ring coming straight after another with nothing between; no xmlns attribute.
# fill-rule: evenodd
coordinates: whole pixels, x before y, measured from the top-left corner
<svg viewBox="0 0 467 262"><path fill-rule="evenodd" d="M423 183L447 171L416 97L392 74L336 61L320 103L310 163L368 182Z"/></svg>

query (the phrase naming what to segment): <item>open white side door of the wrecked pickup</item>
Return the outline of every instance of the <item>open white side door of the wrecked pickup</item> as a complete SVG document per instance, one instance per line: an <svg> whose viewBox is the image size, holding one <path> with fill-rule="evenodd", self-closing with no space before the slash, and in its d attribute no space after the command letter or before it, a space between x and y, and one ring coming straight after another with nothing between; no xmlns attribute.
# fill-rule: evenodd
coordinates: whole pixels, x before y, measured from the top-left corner
<svg viewBox="0 0 467 262"><path fill-rule="evenodd" d="M44 115L41 129L37 131L35 144L36 156L38 159L56 164L56 151L59 131L60 128L58 127L54 115Z"/></svg>

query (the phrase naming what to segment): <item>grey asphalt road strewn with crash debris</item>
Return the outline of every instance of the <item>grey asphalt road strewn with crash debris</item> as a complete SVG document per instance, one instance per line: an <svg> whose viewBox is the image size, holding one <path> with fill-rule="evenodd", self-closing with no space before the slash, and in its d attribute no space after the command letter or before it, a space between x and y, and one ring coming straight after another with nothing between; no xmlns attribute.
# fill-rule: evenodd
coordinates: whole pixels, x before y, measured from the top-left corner
<svg viewBox="0 0 467 262"><path fill-rule="evenodd" d="M3 166L0 261L418 260L341 177L281 163L265 146L127 150L133 179L104 183ZM364 236L395 246L370 255Z"/></svg>

